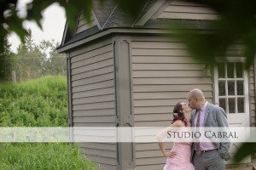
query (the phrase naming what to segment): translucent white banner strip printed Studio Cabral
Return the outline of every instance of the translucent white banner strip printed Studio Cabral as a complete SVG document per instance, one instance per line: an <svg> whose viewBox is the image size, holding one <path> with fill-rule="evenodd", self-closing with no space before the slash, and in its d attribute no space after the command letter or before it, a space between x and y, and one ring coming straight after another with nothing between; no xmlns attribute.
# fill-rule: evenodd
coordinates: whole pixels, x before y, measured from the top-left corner
<svg viewBox="0 0 256 170"><path fill-rule="evenodd" d="M256 142L256 127L0 127L0 142Z"/></svg>

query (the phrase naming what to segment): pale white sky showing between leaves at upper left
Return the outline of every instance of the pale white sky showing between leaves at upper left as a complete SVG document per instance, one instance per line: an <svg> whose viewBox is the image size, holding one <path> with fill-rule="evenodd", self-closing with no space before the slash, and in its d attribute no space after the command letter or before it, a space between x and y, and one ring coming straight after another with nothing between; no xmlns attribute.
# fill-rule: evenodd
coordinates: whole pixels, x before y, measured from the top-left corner
<svg viewBox="0 0 256 170"><path fill-rule="evenodd" d="M31 2L31 0L18 1L17 8L20 10L20 15L26 14L24 9L28 2ZM53 3L43 11L42 15L43 20L41 20L41 25L43 30L41 30L34 21L23 22L23 27L26 30L28 30L28 28L32 30L32 38L36 43L39 43L42 40L52 39L54 39L55 42L61 42L66 22L66 13L64 8L62 8L58 3ZM17 47L20 45L20 37L15 33L11 33L9 35L9 42L12 44L12 51L16 52Z"/></svg>

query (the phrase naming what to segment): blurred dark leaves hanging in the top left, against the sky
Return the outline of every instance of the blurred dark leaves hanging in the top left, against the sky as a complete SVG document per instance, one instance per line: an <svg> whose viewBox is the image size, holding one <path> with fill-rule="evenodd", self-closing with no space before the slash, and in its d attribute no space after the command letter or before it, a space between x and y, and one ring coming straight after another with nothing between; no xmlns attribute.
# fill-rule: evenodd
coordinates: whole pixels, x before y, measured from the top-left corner
<svg viewBox="0 0 256 170"><path fill-rule="evenodd" d="M98 0L104 5L106 0ZM134 19L137 14L140 13L140 9L143 8L147 0L113 0L119 3L119 7L126 13L130 14ZM84 17L86 20L90 20L91 9L93 8L93 0L73 0L73 1L41 1L34 0L32 3L28 3L26 7L26 16L19 14L16 8L17 0L3 0L0 3L1 12L1 26L0 26L0 42L3 41L3 37L11 31L15 31L20 36L21 41L24 42L27 31L23 28L22 22L25 20L35 20L40 28L42 28L40 20L42 19L41 12L45 8L49 7L52 3L59 3L61 7L65 8L66 16L68 20L68 26L73 30L76 25L76 18L79 12L84 11ZM133 4L137 5L133 5ZM0 51L3 50L3 45L0 44Z"/></svg>

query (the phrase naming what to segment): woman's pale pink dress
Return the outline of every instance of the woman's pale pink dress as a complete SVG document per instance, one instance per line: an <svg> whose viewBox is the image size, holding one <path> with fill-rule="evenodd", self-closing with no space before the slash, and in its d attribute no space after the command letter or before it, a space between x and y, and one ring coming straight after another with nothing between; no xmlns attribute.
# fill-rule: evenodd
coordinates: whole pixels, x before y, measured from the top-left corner
<svg viewBox="0 0 256 170"><path fill-rule="evenodd" d="M172 150L176 156L167 157L164 170L195 170L190 162L192 139L185 142L174 142Z"/></svg>

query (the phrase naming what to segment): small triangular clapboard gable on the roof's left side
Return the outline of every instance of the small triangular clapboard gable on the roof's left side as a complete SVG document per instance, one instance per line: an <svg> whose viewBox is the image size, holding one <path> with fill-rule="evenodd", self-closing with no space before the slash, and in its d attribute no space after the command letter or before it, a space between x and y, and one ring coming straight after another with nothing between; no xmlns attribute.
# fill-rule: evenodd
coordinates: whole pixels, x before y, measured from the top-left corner
<svg viewBox="0 0 256 170"><path fill-rule="evenodd" d="M96 26L96 21L92 18L92 15L90 15L90 21L88 21L84 19L84 14L79 14L76 34L80 33L81 31L87 30L92 26Z"/></svg>

